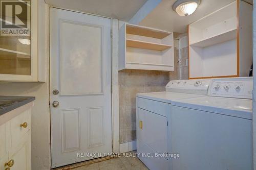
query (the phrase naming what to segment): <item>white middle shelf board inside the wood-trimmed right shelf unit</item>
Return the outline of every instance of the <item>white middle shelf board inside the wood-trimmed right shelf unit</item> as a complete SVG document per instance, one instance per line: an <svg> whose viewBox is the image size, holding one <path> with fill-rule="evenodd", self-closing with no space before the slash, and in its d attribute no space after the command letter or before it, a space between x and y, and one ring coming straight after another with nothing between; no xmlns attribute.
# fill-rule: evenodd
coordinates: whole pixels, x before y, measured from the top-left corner
<svg viewBox="0 0 256 170"><path fill-rule="evenodd" d="M237 38L237 29L228 30L222 34L218 34L216 36L208 37L203 40L190 43L191 46L198 47L207 47L215 44L219 44L221 42L229 41Z"/></svg>

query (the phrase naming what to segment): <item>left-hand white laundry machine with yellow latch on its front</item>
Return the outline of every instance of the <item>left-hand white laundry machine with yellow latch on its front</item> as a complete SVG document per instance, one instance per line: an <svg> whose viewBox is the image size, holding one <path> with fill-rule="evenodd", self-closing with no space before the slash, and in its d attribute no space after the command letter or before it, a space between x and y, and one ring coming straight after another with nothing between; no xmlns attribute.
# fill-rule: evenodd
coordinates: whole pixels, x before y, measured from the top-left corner
<svg viewBox="0 0 256 170"><path fill-rule="evenodd" d="M137 153L150 169L170 169L171 104L175 99L197 98L207 94L211 80L170 81L166 91L141 93L136 97ZM159 155L155 155L159 154Z"/></svg>

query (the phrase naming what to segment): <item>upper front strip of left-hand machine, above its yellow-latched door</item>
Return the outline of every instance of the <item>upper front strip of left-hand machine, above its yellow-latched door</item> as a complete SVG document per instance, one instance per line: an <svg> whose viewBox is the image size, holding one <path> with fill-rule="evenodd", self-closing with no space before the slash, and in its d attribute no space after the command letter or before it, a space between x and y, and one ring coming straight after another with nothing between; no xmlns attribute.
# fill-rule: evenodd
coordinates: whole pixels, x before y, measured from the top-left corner
<svg viewBox="0 0 256 170"><path fill-rule="evenodd" d="M153 101L144 98L136 98L136 107L163 115L170 116L170 104L164 102Z"/></svg>

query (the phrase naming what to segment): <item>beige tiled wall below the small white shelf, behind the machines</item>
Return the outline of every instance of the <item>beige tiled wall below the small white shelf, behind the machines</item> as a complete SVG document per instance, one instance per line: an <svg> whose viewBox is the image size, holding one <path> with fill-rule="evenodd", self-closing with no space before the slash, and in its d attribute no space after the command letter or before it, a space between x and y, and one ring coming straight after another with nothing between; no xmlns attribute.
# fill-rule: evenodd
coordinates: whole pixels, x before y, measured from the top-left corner
<svg viewBox="0 0 256 170"><path fill-rule="evenodd" d="M136 94L164 91L169 80L179 79L178 54L178 50L175 48L175 71L135 69L119 71L120 143L136 139Z"/></svg>

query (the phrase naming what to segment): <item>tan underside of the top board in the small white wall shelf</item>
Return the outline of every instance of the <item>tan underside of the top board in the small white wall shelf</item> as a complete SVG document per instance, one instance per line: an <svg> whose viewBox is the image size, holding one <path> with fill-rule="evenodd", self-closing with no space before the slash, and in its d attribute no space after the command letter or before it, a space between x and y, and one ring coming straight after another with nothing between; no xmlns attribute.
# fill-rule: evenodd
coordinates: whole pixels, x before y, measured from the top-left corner
<svg viewBox="0 0 256 170"><path fill-rule="evenodd" d="M134 26L134 25L126 25L126 33L145 36L145 37L158 38L158 39L163 39L164 37L167 37L168 35L172 34L172 33L164 32L157 29L151 29L143 26Z"/></svg>

